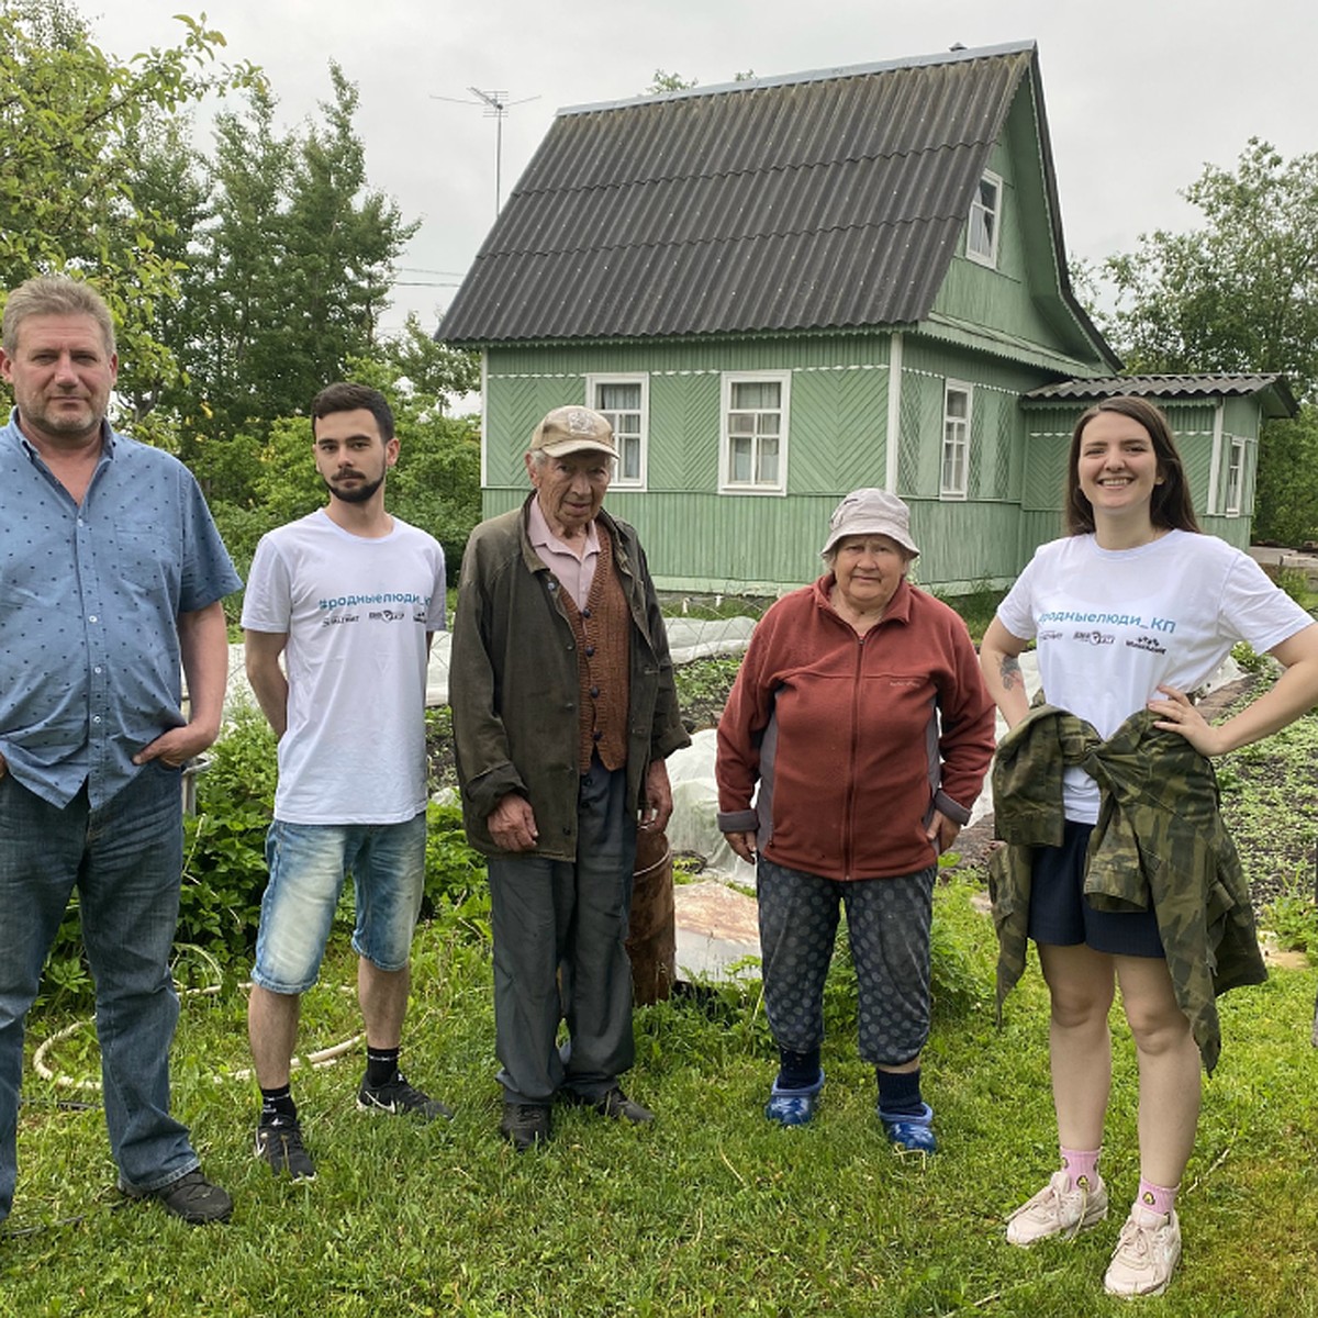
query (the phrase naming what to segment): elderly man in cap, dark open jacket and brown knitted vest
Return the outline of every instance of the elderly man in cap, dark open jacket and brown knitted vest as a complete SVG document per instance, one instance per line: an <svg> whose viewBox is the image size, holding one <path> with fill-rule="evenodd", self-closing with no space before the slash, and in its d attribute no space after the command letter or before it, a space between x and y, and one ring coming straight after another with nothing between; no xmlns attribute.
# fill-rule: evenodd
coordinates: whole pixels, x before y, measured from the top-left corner
<svg viewBox="0 0 1318 1318"><path fill-rule="evenodd" d="M535 427L532 493L472 532L453 622L464 822L489 866L500 1130L518 1149L550 1137L555 1098L654 1119L619 1085L627 911L638 824L667 824L664 759L689 738L645 554L602 509L616 457L589 409Z"/></svg>

